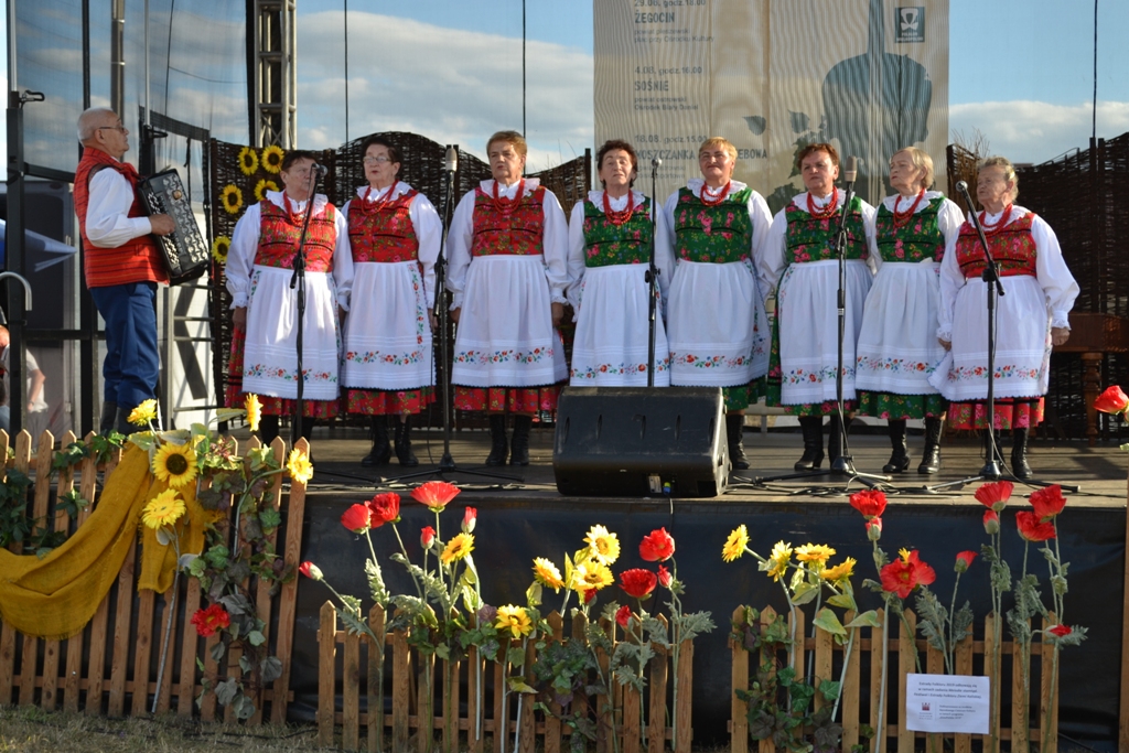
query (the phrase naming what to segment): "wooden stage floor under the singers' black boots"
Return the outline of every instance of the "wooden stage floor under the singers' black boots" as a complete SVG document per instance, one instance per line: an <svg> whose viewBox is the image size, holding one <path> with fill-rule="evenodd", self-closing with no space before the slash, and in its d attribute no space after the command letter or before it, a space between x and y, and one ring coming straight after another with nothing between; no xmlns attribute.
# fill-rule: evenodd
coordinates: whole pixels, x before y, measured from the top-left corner
<svg viewBox="0 0 1129 753"><path fill-rule="evenodd" d="M881 473L882 466L890 458L890 440L882 428L867 428L866 434L855 432L850 437L850 446L855 456L855 466L860 472ZM876 431L881 431L877 434ZM245 432L245 430L244 430ZM239 436L240 432L236 432ZM243 436L246 436L243 434ZM826 438L824 437L824 440ZM892 499L903 498L929 499L931 501L972 501L972 494L979 487L979 481L963 488L949 487L930 492L922 487L957 481L979 473L983 466L979 438L974 436L946 437L942 446L944 467L934 476L919 475L917 465L921 457L922 437L910 435L910 471L893 475L893 480L884 488ZM443 457L443 432L437 430L412 434L412 447L420 465L417 469L401 469L393 458L392 463L379 469L365 469L360 458L369 449L367 431L356 428L324 428L314 430L313 453L315 475L310 484L312 492L345 491L347 489L396 489L410 488L415 483L438 475L423 475L414 479L396 481L406 473L434 471ZM1005 438L1004 456L1009 458L1010 441ZM523 498L563 499L557 491L553 466L553 429L552 427L534 427L530 438L531 463L526 467L505 466L487 469L482 465L490 450L489 434L484 430L466 429L453 432L450 454L460 469L483 473L497 472L499 476L484 478L464 474L460 471L447 473L446 480L457 482L467 494L517 494ZM745 453L752 467L737 472L729 479L729 488L720 498L735 501L794 501L797 494L805 499L819 500L823 497L841 499L840 492L857 491L859 482L847 483L846 479L821 476L806 480L776 481L760 485L754 479L793 473L795 463L803 453L802 438L798 431L769 431L755 429L745 431ZM1035 472L1035 478L1051 483L1076 484L1079 492L1069 492L1071 504L1096 507L1124 507L1127 494L1127 467L1129 454L1123 453L1115 444L1099 444L1088 447L1084 441L1050 441L1033 440L1029 449L1029 463ZM828 467L826 461L823 467ZM813 489L817 487L819 489ZM1022 487L1016 493L1026 493Z"/></svg>

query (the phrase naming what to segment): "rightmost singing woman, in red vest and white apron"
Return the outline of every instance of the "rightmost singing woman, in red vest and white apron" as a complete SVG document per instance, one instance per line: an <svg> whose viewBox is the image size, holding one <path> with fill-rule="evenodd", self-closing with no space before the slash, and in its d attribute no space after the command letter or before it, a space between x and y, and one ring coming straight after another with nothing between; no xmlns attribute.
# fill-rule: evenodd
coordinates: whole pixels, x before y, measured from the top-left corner
<svg viewBox="0 0 1129 753"><path fill-rule="evenodd" d="M1012 430L1012 472L1027 479L1027 432L1043 419L1051 347L1065 344L1070 336L1069 314L1078 283L1062 260L1054 231L1042 218L1017 207L1017 195L1012 163L991 157L980 166L980 225L1006 294L996 303L991 426ZM949 352L930 378L951 401L948 420L957 429L988 428L987 283L980 278L986 261L975 228L965 221L949 240L940 265L937 336Z"/></svg>

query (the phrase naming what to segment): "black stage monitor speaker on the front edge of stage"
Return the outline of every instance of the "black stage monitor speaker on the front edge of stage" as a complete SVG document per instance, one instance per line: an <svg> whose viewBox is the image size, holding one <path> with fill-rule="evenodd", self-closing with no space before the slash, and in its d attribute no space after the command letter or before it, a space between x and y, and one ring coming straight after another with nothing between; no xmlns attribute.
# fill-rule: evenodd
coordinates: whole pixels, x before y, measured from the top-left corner
<svg viewBox="0 0 1129 753"><path fill-rule="evenodd" d="M721 388L566 388L553 474L569 496L721 494L729 475Z"/></svg>

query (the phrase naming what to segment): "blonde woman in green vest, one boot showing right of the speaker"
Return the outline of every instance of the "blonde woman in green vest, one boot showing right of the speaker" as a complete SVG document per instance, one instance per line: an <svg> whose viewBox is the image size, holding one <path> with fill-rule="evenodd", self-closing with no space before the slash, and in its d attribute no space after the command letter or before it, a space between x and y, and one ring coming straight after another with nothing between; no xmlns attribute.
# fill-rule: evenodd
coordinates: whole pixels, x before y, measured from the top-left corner
<svg viewBox="0 0 1129 753"><path fill-rule="evenodd" d="M666 329L671 384L723 387L729 458L747 469L742 411L758 399L768 371L768 319L753 265L764 249L772 216L761 194L733 180L737 149L714 137L698 149L702 177L663 205L663 255L677 260Z"/></svg>

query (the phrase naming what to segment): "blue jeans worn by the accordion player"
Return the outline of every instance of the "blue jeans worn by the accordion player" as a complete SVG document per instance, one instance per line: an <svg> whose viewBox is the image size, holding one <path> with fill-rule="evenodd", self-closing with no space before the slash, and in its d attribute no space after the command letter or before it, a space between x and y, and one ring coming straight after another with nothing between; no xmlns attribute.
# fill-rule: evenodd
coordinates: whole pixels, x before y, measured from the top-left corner
<svg viewBox="0 0 1129 753"><path fill-rule="evenodd" d="M129 282L90 288L106 321L106 360L102 364L104 399L130 411L157 396L156 282Z"/></svg>

